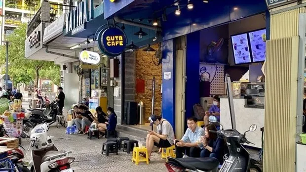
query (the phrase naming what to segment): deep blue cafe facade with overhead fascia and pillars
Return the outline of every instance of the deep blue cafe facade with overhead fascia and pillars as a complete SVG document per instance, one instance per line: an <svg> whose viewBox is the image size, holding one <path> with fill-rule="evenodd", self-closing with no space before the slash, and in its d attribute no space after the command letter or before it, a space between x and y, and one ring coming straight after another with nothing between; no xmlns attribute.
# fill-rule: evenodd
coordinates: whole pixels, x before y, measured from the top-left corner
<svg viewBox="0 0 306 172"><path fill-rule="evenodd" d="M180 15L176 15L179 2ZM192 115L192 106L199 101L198 68L200 60L200 30L220 26L236 20L266 13L267 40L269 39L269 13L265 0L192 0L193 8L187 7L188 0L105 0L105 19L114 17L131 20L158 20L162 30L162 75L171 72L171 80L162 80L162 116L175 126L175 39L187 36L185 119ZM127 34L127 37L131 35ZM165 60L166 59L166 60Z"/></svg>

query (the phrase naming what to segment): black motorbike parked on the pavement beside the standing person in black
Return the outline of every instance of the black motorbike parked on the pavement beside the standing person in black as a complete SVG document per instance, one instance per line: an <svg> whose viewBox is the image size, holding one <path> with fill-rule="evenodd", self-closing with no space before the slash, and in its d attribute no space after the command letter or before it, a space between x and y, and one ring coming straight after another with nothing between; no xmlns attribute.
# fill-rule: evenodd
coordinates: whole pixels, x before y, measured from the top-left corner
<svg viewBox="0 0 306 172"><path fill-rule="evenodd" d="M50 103L46 109L28 109L31 111L29 121L34 125L49 123L49 125L55 123L56 116L59 113L59 107L56 101Z"/></svg>

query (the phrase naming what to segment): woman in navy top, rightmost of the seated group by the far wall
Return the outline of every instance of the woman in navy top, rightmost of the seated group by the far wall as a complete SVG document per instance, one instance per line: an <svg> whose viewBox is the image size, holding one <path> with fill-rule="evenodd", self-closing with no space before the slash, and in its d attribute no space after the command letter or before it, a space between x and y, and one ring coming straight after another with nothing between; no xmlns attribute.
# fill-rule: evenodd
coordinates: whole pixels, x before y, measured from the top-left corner
<svg viewBox="0 0 306 172"><path fill-rule="evenodd" d="M114 131L117 125L117 115L115 114L115 111L112 107L107 108L107 114L109 115L108 122L105 122L104 124L99 124L98 126L99 131L101 131L104 134L106 130Z"/></svg>

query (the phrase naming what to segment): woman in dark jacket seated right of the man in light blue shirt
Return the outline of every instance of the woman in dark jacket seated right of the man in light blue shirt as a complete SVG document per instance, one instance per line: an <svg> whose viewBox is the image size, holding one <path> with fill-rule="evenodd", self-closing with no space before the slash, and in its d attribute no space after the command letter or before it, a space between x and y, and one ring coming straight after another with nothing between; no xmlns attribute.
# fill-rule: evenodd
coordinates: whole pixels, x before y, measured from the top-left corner
<svg viewBox="0 0 306 172"><path fill-rule="evenodd" d="M200 140L204 145L201 151L201 158L217 158L220 164L223 164L223 156L225 153L224 138L218 137L216 133L211 133L209 130L217 131L217 128L212 124L205 127L205 136L202 136Z"/></svg>

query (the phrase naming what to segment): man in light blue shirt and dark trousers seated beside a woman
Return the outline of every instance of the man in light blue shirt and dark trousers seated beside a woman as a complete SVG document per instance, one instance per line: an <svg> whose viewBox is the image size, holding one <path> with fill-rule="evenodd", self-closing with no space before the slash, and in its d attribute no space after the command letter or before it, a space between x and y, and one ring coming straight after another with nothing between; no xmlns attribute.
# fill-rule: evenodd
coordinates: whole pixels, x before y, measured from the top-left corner
<svg viewBox="0 0 306 172"><path fill-rule="evenodd" d="M203 148L200 139L204 135L204 129L197 126L195 117L188 118L187 125L188 129L183 138L180 141L175 140L176 158L183 158L183 152L186 152L189 157L199 158Z"/></svg>

